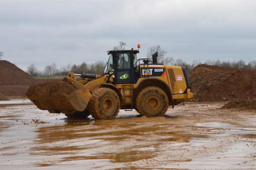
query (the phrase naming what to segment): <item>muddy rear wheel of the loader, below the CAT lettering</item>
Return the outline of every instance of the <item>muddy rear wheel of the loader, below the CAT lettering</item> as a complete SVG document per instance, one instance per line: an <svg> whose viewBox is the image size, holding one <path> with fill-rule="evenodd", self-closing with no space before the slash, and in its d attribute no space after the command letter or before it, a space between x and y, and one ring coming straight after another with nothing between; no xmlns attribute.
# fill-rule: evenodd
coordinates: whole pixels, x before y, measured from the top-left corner
<svg viewBox="0 0 256 170"><path fill-rule="evenodd" d="M138 112L147 117L163 116L168 109L169 101L166 93L158 87L143 88L136 98Z"/></svg>

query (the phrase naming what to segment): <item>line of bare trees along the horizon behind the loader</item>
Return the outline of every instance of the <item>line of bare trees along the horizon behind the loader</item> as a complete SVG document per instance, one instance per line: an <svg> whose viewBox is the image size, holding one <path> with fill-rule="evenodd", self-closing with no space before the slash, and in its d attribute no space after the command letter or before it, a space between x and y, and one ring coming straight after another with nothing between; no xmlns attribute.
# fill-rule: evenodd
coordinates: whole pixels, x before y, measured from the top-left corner
<svg viewBox="0 0 256 170"><path fill-rule="evenodd" d="M120 41L117 46L113 47L113 50L125 50L126 43L124 41ZM164 65L175 65L175 66L183 66L186 67L188 73L192 71L192 69L199 64L206 65L217 65L220 67L230 67L230 68L244 68L244 69L252 69L256 70L256 60L250 61L246 63L244 60L240 59L238 61L221 61L217 60L207 60L205 62L201 62L198 60L193 60L192 62L186 62L181 58L174 59L167 55L167 51L161 47L161 45L151 46L147 50L146 58L149 58L149 63L152 63L152 55L157 51L157 63ZM0 51L0 58L3 57L2 51ZM26 72L31 76L45 75L45 76L55 76L55 75L67 75L68 72L74 73L82 73L87 72L88 74L102 74L104 66L106 65L106 61L96 61L92 64L88 64L86 62L82 62L81 64L67 64L66 66L61 66L57 68L55 63L51 65L47 65L44 70L38 70L34 64L31 64L27 67Z"/></svg>

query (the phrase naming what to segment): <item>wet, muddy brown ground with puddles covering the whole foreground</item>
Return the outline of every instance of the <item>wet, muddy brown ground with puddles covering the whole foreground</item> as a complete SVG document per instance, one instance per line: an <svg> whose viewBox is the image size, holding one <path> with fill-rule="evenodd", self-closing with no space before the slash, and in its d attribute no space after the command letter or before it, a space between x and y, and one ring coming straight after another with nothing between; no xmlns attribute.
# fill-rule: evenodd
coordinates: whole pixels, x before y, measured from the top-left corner
<svg viewBox="0 0 256 170"><path fill-rule="evenodd" d="M26 103L26 102L25 102ZM0 103L1 169L256 169L255 111L185 103L164 117L67 120Z"/></svg>

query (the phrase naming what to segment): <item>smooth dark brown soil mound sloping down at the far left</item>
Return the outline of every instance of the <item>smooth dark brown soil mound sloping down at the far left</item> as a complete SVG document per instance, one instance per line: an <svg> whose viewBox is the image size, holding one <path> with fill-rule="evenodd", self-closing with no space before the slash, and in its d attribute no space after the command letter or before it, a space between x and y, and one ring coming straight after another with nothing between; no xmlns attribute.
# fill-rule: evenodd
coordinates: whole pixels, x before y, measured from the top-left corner
<svg viewBox="0 0 256 170"><path fill-rule="evenodd" d="M34 85L38 83L35 78L6 60L0 60L0 68L0 86Z"/></svg>

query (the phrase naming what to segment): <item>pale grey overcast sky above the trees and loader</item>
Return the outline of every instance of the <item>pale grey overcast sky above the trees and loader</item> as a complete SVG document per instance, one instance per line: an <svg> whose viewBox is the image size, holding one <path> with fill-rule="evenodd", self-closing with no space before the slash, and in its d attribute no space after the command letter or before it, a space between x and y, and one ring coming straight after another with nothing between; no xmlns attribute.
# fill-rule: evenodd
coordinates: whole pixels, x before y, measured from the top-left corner
<svg viewBox="0 0 256 170"><path fill-rule="evenodd" d="M256 0L0 0L0 50L23 70L107 61L119 41L167 56L256 59Z"/></svg>

